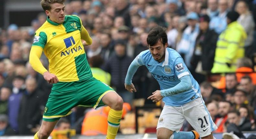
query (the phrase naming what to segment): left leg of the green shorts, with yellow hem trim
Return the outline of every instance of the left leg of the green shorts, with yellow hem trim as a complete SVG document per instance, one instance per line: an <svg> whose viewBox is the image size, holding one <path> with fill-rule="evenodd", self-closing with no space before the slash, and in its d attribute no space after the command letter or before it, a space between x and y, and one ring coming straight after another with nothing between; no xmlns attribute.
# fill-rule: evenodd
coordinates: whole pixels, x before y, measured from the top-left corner
<svg viewBox="0 0 256 139"><path fill-rule="evenodd" d="M45 106L43 120L52 122L57 118L67 116L77 105L74 82L59 82L53 85Z"/></svg>

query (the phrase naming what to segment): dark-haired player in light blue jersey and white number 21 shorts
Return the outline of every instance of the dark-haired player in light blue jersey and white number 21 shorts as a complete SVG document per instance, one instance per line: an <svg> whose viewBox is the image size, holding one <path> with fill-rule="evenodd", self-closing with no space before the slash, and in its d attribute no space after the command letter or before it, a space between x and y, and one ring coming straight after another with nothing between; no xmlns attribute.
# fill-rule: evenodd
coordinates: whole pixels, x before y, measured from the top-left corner
<svg viewBox="0 0 256 139"><path fill-rule="evenodd" d="M145 65L158 81L161 90L148 99L165 106L157 124L158 139L214 139L217 129L208 112L197 81L186 67L180 54L167 48L166 28L155 27L147 37L149 50L141 52L131 63L125 78L125 88L136 92L132 77L139 66ZM179 132L186 119L196 131Z"/></svg>

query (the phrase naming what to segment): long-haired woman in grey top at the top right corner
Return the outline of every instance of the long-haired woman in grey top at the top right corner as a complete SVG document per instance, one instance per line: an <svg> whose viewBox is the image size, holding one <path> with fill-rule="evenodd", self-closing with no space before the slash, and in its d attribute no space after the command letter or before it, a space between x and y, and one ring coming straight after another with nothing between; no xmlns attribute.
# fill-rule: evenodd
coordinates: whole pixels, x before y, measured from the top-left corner
<svg viewBox="0 0 256 139"><path fill-rule="evenodd" d="M245 56L251 58L253 55L253 33L255 23L252 14L249 11L248 4L244 0L239 0L236 4L236 11L239 13L238 23L244 27L247 33L247 39L244 42Z"/></svg>

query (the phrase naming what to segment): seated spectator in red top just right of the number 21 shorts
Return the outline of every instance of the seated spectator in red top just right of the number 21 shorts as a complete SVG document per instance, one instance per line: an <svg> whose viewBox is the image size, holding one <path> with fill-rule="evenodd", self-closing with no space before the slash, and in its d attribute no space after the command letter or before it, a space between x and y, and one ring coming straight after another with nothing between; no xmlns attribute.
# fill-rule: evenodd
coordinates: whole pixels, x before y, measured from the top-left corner
<svg viewBox="0 0 256 139"><path fill-rule="evenodd" d="M231 109L230 102L222 101L219 102L219 114L221 117L217 118L215 124L217 125L218 129L215 130L216 133L224 132L224 126L227 121L227 113Z"/></svg>

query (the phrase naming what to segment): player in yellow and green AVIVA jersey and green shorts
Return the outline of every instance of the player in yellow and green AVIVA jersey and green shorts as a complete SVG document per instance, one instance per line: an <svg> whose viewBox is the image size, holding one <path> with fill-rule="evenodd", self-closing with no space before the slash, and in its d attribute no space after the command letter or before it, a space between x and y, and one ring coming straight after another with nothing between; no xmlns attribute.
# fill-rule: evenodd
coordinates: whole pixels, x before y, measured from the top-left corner
<svg viewBox="0 0 256 139"><path fill-rule="evenodd" d="M123 100L111 87L92 77L81 41L90 45L92 39L78 16L65 16L64 2L41 0L47 21L36 31L29 63L53 86L41 128L34 139L48 138L60 117L69 115L77 105L110 106L106 138L114 139L122 117ZM40 61L42 52L49 60L49 71Z"/></svg>

